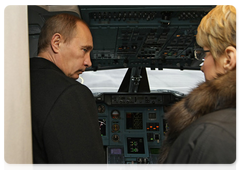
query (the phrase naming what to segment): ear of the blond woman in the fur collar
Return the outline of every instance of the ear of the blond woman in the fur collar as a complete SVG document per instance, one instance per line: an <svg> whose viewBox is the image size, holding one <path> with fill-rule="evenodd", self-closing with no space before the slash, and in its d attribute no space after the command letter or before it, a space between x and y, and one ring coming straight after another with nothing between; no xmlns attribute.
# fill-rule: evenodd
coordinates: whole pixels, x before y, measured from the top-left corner
<svg viewBox="0 0 240 170"><path fill-rule="evenodd" d="M233 70L237 67L239 62L239 53L237 49L233 46L228 46L225 49L225 58L224 58L224 69L226 71Z"/></svg>

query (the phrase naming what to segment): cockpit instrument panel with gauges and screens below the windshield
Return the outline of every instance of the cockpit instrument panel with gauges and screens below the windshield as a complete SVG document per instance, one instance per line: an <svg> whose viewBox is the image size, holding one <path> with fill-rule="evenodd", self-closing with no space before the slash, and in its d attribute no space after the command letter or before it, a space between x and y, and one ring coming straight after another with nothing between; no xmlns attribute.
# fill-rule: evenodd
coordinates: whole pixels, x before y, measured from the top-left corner
<svg viewBox="0 0 240 170"><path fill-rule="evenodd" d="M157 168L166 133L164 108L182 99L174 93L102 93L95 96L107 166ZM141 164L141 165L140 165Z"/></svg>

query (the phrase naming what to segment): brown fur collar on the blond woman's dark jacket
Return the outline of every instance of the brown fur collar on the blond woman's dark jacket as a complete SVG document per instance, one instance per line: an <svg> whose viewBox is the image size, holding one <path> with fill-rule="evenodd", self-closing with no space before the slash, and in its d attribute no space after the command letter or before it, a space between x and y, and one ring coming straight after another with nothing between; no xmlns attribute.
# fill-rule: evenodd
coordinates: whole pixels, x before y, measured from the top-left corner
<svg viewBox="0 0 240 170"><path fill-rule="evenodd" d="M165 114L169 125L159 157L159 170L179 134L199 117L226 108L240 108L240 69L229 71L193 89Z"/></svg>

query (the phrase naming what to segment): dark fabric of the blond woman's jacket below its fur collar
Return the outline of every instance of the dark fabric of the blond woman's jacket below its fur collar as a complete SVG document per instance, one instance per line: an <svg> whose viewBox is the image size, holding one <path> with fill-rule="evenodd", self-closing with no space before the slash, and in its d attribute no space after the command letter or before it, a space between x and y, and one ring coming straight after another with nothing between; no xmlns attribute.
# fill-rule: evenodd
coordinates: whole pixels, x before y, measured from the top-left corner
<svg viewBox="0 0 240 170"><path fill-rule="evenodd" d="M172 145L163 170L239 170L240 110L199 118Z"/></svg>

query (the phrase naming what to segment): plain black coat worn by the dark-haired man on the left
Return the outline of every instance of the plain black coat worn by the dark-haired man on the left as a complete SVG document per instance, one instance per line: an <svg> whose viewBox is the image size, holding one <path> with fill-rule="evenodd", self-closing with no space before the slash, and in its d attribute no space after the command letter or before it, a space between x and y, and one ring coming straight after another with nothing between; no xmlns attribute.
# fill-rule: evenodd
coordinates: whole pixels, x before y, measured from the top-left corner
<svg viewBox="0 0 240 170"><path fill-rule="evenodd" d="M30 61L34 170L103 170L91 91L43 58Z"/></svg>

